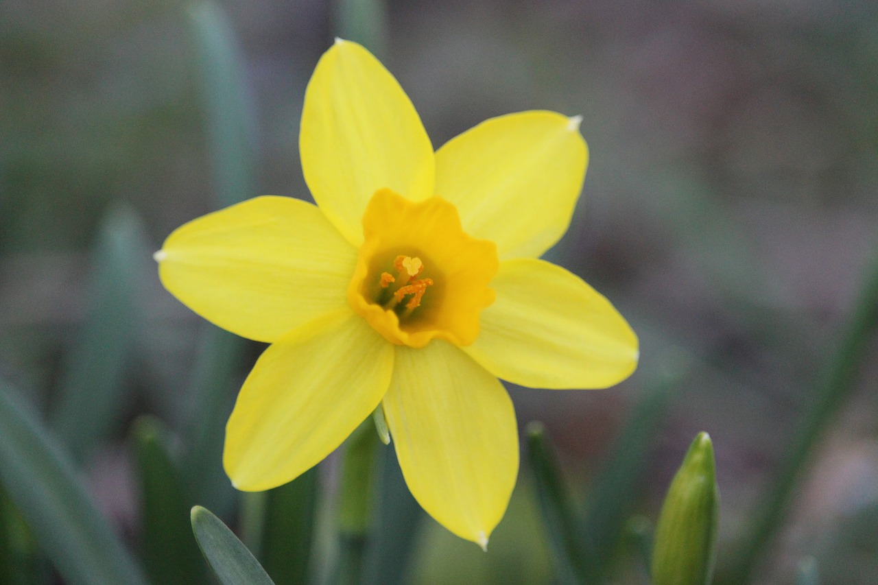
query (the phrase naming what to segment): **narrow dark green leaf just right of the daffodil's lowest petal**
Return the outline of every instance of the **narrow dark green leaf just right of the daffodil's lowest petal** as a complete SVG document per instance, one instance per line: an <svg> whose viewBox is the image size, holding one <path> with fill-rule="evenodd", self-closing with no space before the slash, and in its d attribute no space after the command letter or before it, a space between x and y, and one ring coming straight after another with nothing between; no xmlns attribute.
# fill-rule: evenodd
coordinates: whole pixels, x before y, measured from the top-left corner
<svg viewBox="0 0 878 585"><path fill-rule="evenodd" d="M528 441L526 461L534 476L558 581L586 582L587 567L583 564L584 545L579 539L577 513L564 486L555 451L546 438L543 423L529 423L525 433Z"/></svg>

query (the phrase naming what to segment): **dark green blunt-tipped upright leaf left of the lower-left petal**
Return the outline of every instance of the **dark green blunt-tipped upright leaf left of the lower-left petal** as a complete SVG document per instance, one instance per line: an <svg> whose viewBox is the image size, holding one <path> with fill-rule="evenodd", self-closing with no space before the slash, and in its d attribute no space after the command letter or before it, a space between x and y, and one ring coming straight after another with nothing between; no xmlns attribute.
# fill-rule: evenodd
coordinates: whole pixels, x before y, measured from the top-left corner
<svg viewBox="0 0 878 585"><path fill-rule="evenodd" d="M140 417L133 425L133 442L140 470L141 534L148 573L155 583L203 582L205 566L186 517L191 500L170 459L162 423L151 416Z"/></svg>

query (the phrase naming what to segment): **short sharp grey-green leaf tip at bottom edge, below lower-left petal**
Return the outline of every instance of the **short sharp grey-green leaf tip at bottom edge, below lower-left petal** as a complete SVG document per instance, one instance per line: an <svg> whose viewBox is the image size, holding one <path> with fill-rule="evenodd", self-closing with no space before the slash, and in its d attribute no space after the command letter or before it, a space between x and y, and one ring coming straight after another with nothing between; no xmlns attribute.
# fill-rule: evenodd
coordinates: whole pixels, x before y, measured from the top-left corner
<svg viewBox="0 0 878 585"><path fill-rule="evenodd" d="M273 585L247 547L210 510L195 506L191 522L201 552L223 585Z"/></svg>

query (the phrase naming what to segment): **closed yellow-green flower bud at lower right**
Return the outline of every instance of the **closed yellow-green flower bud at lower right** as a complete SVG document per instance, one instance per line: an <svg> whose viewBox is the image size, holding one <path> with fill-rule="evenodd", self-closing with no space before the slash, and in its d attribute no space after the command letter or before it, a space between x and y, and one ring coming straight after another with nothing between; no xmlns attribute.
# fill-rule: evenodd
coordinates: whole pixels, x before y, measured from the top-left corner
<svg viewBox="0 0 878 585"><path fill-rule="evenodd" d="M653 585L707 585L719 524L713 444L695 437L662 505L652 551Z"/></svg>

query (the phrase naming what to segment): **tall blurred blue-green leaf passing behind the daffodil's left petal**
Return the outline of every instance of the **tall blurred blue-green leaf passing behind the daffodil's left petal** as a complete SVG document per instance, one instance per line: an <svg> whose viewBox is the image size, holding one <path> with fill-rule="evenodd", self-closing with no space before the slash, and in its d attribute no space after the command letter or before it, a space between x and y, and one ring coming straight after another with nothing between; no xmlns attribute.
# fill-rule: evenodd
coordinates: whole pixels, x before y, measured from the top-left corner
<svg viewBox="0 0 878 585"><path fill-rule="evenodd" d="M200 73L215 206L231 206L257 194L255 112L241 50L218 3L196 2L186 15ZM222 471L222 446L234 404L232 379L246 347L240 338L208 326L189 394L193 408L186 425L182 468L198 502L205 502L220 516L234 505L234 490Z"/></svg>

